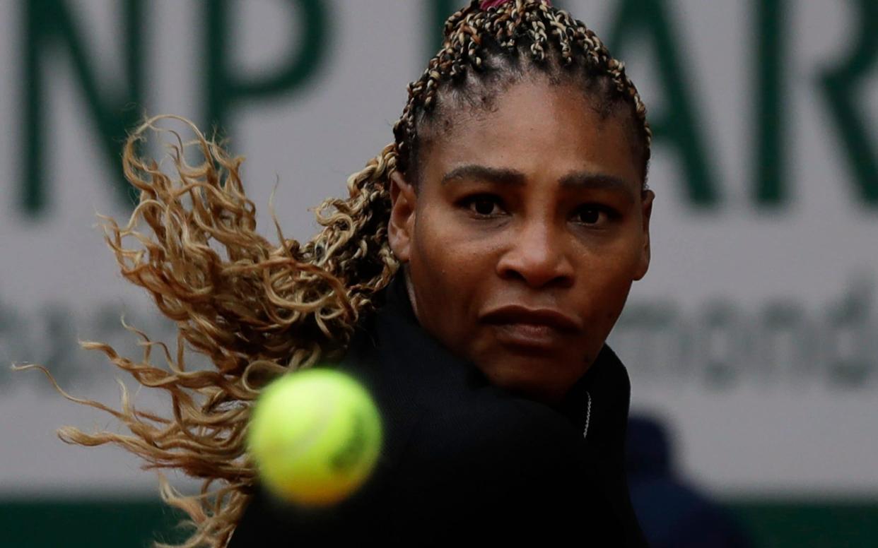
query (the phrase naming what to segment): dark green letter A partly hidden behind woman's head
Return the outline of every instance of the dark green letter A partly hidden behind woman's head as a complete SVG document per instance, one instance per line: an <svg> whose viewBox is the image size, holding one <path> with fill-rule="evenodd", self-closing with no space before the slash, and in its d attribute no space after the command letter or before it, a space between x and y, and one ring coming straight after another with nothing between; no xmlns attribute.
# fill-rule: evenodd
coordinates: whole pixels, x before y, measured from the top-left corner
<svg viewBox="0 0 878 548"><path fill-rule="evenodd" d="M666 139L677 148L686 174L687 196L695 207L719 202L714 176L710 172L705 136L695 115L695 104L680 65L679 47L674 43L672 18L663 0L622 0L609 32L608 44L617 59L632 38L649 39L656 55L657 75L664 88L667 110L648 118L656 140ZM648 106L648 105L647 105Z"/></svg>

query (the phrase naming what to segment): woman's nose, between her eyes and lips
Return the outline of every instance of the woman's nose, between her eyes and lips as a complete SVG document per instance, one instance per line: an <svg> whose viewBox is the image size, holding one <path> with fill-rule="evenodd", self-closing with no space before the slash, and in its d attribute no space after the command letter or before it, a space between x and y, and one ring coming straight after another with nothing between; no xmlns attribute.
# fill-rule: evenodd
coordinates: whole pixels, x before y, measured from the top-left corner
<svg viewBox="0 0 878 548"><path fill-rule="evenodd" d="M497 274L506 280L524 281L531 288L570 287L574 268L563 235L541 220L512 231L507 250L497 263Z"/></svg>

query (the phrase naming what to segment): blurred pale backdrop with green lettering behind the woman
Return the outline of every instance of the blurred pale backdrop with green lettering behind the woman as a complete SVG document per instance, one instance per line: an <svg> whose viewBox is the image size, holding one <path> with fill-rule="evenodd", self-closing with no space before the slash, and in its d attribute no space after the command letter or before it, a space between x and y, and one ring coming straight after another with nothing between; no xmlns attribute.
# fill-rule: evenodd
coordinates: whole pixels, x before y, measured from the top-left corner
<svg viewBox="0 0 878 548"><path fill-rule="evenodd" d="M131 211L126 130L144 113L220 128L247 156L263 234L277 183L284 232L307 238L308 208L392 140L462 2L0 3L4 545L175 538L155 473L54 434L112 417L9 367L46 364L115 405L119 374L77 338L140 357L124 314L173 341L96 225ZM655 132L653 262L610 338L632 380L644 529L683 545L667 529L710 507L744 539L729 545L878 545L878 3L555 4L626 62ZM167 409L147 390L136 402Z"/></svg>

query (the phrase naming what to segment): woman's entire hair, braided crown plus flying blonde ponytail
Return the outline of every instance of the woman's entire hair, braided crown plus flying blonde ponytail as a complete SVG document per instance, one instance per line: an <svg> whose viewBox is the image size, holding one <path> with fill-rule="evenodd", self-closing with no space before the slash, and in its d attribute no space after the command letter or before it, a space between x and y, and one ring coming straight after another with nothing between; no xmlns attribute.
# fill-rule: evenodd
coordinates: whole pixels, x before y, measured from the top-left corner
<svg viewBox="0 0 878 548"><path fill-rule="evenodd" d="M579 78L590 98L630 111L645 184L651 133L644 104L623 64L580 21L545 0L474 0L448 19L444 36L421 78L409 84L394 141L349 176L346 199L320 205L322 230L304 245L284 238L273 210L279 243L255 231L255 206L240 176L243 158L229 155L191 122L152 117L127 139L125 176L140 189L140 203L124 227L101 216L105 238L126 279L148 289L176 322L176 352L128 325L142 339L139 360L103 343L81 345L104 352L141 385L167 391L171 416L135 409L124 386L116 410L55 385L68 399L111 413L130 431L65 427L59 436L78 445L120 445L140 455L145 468L176 469L203 480L200 494L192 496L161 481L162 499L184 510L194 530L180 546L225 546L241 519L256 482L244 440L260 388L284 372L342 358L357 322L378 306L378 292L399 269L387 240L389 178L399 170L416 180L418 148L435 131L444 107L486 108L491 89L525 72L542 71L552 82ZM187 125L195 138L184 142L157 125L170 118ZM150 132L173 137L170 174L138 153ZM196 165L186 160L191 149L201 159ZM140 246L126 246L128 238ZM151 363L155 346L167 367ZM187 368L186 346L212 367Z"/></svg>

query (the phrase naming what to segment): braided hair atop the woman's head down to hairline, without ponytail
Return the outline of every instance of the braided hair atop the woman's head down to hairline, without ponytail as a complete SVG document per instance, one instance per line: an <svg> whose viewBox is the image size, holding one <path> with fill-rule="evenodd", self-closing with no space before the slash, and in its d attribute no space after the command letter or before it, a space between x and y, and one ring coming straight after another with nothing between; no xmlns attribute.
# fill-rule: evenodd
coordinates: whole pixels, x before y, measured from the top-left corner
<svg viewBox="0 0 878 548"><path fill-rule="evenodd" d="M408 103L393 126L397 167L418 181L418 153L437 118L462 108L490 109L493 98L528 73L552 84L581 84L589 101L608 117L628 108L635 157L646 183L651 130L646 108L622 61L581 21L547 0L473 1L446 22L443 47L421 78L408 85Z"/></svg>

